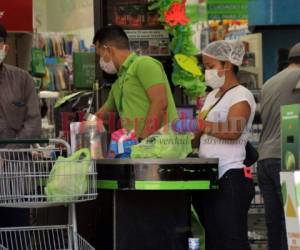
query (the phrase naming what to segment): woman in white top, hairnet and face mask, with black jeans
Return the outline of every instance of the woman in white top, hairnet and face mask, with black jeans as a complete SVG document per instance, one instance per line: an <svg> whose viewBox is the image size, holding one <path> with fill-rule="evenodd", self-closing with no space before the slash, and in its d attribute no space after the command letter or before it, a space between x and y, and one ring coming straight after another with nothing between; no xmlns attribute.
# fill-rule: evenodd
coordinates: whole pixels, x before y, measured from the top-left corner
<svg viewBox="0 0 300 250"><path fill-rule="evenodd" d="M193 196L206 229L206 249L250 249L247 217L254 185L243 161L256 104L236 76L244 54L243 43L229 41L211 43L202 53L206 83L213 91L199 118L199 156L219 159L218 190Z"/></svg>

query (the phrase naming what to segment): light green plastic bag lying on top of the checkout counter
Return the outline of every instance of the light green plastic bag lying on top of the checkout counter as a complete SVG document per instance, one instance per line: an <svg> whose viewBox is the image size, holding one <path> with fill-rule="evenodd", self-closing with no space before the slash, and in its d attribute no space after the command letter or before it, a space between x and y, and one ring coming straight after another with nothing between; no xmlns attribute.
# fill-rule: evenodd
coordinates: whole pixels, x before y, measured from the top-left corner
<svg viewBox="0 0 300 250"><path fill-rule="evenodd" d="M192 152L192 135L157 133L132 147L131 158L185 159Z"/></svg>

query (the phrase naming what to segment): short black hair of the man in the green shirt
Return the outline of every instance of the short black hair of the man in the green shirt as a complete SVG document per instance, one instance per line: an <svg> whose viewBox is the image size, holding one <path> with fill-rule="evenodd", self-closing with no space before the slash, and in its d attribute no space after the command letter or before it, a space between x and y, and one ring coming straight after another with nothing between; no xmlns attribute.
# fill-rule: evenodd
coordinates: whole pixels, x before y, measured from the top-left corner
<svg viewBox="0 0 300 250"><path fill-rule="evenodd" d="M98 30L94 36L93 43L101 45L112 43L118 49L129 49L129 39L125 31L117 25L106 26Z"/></svg>

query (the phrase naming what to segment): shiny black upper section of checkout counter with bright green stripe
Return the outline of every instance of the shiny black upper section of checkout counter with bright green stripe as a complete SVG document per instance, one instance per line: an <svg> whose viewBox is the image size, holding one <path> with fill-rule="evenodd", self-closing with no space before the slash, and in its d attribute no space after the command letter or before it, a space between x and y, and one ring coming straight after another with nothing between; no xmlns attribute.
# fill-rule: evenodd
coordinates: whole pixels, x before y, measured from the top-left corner
<svg viewBox="0 0 300 250"><path fill-rule="evenodd" d="M103 159L98 189L178 191L217 188L218 159Z"/></svg>

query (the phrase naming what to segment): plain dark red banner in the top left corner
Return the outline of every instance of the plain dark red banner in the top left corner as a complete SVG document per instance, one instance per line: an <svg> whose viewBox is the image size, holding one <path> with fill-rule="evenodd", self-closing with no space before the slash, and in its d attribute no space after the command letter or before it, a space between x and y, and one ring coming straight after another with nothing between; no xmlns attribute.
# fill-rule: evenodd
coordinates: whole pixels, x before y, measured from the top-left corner
<svg viewBox="0 0 300 250"><path fill-rule="evenodd" d="M0 0L0 23L9 32L32 32L32 0Z"/></svg>

